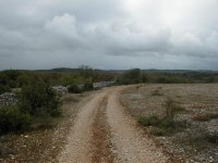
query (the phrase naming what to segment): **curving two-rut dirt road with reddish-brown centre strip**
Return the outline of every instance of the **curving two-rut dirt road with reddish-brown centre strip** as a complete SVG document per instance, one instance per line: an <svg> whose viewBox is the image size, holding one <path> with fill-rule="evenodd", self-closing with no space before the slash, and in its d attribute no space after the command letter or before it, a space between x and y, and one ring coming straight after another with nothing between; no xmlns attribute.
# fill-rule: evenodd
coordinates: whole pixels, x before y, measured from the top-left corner
<svg viewBox="0 0 218 163"><path fill-rule="evenodd" d="M136 122L124 112L119 93L111 87L93 95L81 108L68 143L58 155L62 163L165 163L168 158Z"/></svg>

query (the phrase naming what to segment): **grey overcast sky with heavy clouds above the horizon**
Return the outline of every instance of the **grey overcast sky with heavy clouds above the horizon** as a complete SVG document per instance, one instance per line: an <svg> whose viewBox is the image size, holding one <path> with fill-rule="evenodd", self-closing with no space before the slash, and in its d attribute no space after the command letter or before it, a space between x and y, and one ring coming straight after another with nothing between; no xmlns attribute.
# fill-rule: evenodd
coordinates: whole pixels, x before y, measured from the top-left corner
<svg viewBox="0 0 218 163"><path fill-rule="evenodd" d="M0 0L0 70L218 70L218 0Z"/></svg>

